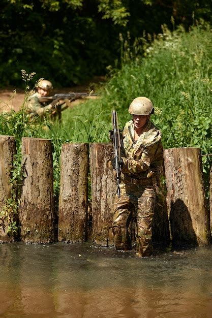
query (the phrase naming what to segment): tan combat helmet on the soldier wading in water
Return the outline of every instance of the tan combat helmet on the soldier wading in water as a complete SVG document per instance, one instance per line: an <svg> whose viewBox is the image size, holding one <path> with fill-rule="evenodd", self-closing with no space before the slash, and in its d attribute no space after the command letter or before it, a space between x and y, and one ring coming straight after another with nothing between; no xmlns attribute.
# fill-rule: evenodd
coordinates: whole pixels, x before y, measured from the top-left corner
<svg viewBox="0 0 212 318"><path fill-rule="evenodd" d="M128 111L132 115L151 115L154 114L154 106L148 98L140 96L132 101Z"/></svg>

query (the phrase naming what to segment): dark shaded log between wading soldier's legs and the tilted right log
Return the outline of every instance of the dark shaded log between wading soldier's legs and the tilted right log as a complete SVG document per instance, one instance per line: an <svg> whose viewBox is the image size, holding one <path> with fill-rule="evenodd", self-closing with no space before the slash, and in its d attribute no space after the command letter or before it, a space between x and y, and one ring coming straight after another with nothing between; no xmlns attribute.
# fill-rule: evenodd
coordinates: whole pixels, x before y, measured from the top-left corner
<svg viewBox="0 0 212 318"><path fill-rule="evenodd" d="M153 241L157 243L170 242L169 219L166 203L166 184L164 165L159 172L158 186L156 187L156 207L153 218Z"/></svg>

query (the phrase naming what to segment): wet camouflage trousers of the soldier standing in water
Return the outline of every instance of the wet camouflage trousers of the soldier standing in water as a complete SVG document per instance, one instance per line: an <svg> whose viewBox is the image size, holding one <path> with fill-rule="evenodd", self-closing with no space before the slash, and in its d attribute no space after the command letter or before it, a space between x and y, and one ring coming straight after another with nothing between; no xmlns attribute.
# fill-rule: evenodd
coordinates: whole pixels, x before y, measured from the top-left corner
<svg viewBox="0 0 212 318"><path fill-rule="evenodd" d="M128 228L134 216L136 257L152 255L152 222L155 203L156 193L153 186L120 184L120 198L115 197L112 224L116 249L132 249Z"/></svg>

